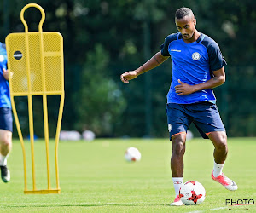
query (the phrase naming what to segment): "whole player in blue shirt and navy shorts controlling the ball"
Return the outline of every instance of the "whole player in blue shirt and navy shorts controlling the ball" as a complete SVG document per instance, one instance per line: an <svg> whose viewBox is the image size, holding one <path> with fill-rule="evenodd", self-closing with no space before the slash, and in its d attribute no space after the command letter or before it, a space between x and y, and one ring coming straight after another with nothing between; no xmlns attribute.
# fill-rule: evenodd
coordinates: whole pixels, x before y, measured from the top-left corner
<svg viewBox="0 0 256 213"><path fill-rule="evenodd" d="M226 61L218 44L195 29L196 20L191 9L177 9L175 24L178 32L166 37L161 50L137 70L123 73L121 80L129 83L131 79L172 58L172 83L166 106L172 140L172 181L176 193L171 205L182 205L178 193L183 184L183 155L191 123L215 147L212 179L231 191L236 190L237 185L222 173L228 153L227 135L212 91L212 88L225 82Z"/></svg>

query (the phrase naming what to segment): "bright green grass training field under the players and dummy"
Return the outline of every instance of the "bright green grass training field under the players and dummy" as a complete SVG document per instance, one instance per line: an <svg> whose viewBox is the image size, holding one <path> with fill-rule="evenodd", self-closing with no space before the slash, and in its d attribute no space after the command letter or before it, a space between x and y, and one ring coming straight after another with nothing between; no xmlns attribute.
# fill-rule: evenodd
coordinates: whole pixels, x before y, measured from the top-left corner
<svg viewBox="0 0 256 213"><path fill-rule="evenodd" d="M229 206L226 199L253 199L256 203L255 138L229 139L229 156L224 173L236 181L238 190L230 192L212 181L210 141L194 139L187 142L184 158L184 181L200 181L207 198L201 205L172 207L174 199L170 156L172 144L167 139L65 142L59 145L61 194L25 195L23 160L19 141L14 141L9 157L11 181L0 182L0 212L226 212L249 210L255 205ZM30 143L26 141L27 161ZM142 160L127 163L127 147L137 147ZM54 151L54 142L50 142ZM37 186L46 184L44 141L35 143ZM51 156L51 160L53 156ZM55 187L54 166L52 185ZM28 179L32 179L31 166ZM32 183L29 181L29 187Z"/></svg>

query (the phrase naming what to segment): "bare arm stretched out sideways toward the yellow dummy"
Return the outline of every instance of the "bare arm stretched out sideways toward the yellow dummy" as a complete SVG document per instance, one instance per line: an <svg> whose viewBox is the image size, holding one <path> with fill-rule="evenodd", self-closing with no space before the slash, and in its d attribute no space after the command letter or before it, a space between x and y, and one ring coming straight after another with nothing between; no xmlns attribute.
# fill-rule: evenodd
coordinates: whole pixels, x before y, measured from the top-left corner
<svg viewBox="0 0 256 213"><path fill-rule="evenodd" d="M163 56L161 51L156 53L150 60L148 60L143 66L140 66L135 71L128 71L121 75L121 81L124 83L129 83L130 80L137 78L137 76L148 72L148 70L154 69L156 66L160 66L169 56Z"/></svg>

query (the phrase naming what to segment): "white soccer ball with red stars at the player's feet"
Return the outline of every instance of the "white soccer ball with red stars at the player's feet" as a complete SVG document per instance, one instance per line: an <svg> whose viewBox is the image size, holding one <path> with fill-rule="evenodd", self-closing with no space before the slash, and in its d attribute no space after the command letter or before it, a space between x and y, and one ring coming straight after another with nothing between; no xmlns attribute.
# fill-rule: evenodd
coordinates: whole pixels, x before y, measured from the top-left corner
<svg viewBox="0 0 256 213"><path fill-rule="evenodd" d="M206 190L198 181L187 181L179 190L183 204L201 204L206 199Z"/></svg>

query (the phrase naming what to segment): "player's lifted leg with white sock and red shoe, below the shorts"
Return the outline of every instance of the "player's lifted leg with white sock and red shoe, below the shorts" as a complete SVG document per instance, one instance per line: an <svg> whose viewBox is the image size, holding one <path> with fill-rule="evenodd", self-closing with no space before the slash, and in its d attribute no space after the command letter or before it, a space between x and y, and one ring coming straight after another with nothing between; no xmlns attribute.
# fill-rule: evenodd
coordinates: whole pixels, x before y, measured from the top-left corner
<svg viewBox="0 0 256 213"><path fill-rule="evenodd" d="M211 132L208 137L211 139L214 145L214 165L212 170L212 179L218 181L226 189L235 191L237 189L236 182L230 180L227 176L224 176L222 172L224 162L228 153L227 136L224 131Z"/></svg>

